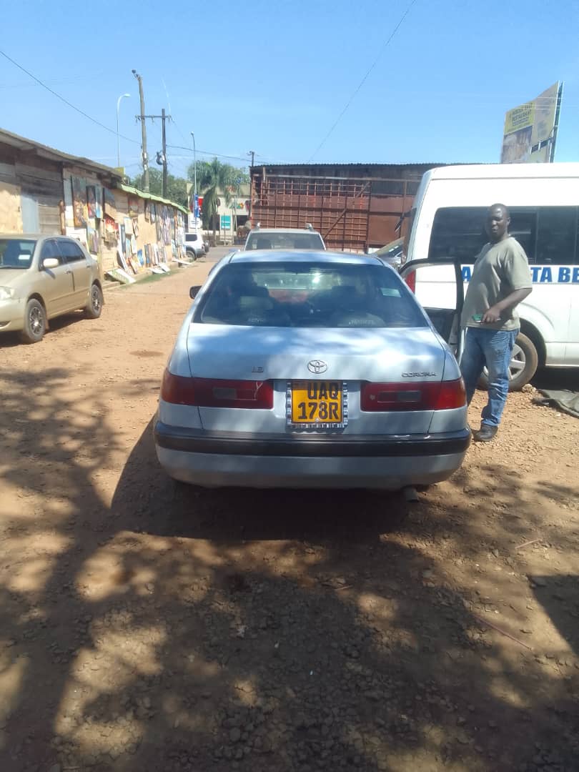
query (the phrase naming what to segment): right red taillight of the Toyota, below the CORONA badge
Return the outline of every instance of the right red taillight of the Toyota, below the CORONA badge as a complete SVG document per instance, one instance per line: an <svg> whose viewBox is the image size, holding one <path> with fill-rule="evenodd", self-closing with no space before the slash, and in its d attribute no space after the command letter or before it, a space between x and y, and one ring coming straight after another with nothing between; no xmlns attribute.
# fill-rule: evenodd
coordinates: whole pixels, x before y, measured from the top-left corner
<svg viewBox="0 0 579 772"><path fill-rule="evenodd" d="M452 410L466 405L465 384L456 381L414 381L403 384L363 383L360 408L367 412Z"/></svg>

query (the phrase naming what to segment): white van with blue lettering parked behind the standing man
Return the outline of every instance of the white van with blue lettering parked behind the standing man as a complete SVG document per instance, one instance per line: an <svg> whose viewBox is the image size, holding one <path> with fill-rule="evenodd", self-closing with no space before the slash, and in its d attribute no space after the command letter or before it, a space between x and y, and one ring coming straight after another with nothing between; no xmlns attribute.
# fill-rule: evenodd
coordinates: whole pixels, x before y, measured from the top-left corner
<svg viewBox="0 0 579 772"><path fill-rule="evenodd" d="M472 262L488 241L486 210L496 203L509 208L509 232L527 252L533 276L533 292L518 306L521 332L510 367L514 391L537 367L579 367L579 163L427 171L411 212L401 271L411 276L433 321L447 319L455 303L462 306ZM424 261L428 266L421 266ZM463 287L455 286L458 273L450 266L433 266L443 262L459 263Z"/></svg>

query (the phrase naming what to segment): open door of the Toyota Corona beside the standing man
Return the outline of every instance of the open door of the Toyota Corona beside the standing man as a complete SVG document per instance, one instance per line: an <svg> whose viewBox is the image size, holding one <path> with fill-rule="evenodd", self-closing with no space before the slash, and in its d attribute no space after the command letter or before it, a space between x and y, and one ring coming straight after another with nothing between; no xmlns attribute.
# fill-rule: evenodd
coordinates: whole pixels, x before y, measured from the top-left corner
<svg viewBox="0 0 579 772"><path fill-rule="evenodd" d="M400 275L415 293L432 326L460 361L464 347L460 317L465 300L460 262L454 259L411 260L401 267Z"/></svg>

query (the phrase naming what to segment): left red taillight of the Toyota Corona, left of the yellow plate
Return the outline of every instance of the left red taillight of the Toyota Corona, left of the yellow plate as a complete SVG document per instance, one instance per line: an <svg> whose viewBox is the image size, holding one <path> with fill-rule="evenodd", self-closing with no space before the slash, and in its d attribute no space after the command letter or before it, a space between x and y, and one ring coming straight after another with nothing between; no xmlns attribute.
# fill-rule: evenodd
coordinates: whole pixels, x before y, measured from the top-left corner
<svg viewBox="0 0 579 772"><path fill-rule="evenodd" d="M226 381L186 378L164 371L161 399L173 405L199 408L273 408L271 381Z"/></svg>

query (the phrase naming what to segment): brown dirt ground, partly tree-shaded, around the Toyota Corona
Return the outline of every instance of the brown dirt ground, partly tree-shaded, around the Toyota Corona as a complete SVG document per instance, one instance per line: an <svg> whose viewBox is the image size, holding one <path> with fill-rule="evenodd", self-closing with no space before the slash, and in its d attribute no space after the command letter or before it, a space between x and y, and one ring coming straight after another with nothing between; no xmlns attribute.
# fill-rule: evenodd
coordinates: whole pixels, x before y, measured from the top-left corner
<svg viewBox="0 0 579 772"><path fill-rule="evenodd" d="M512 395L418 503L176 488L208 267L0 340L0 769L579 770L579 422Z"/></svg>

